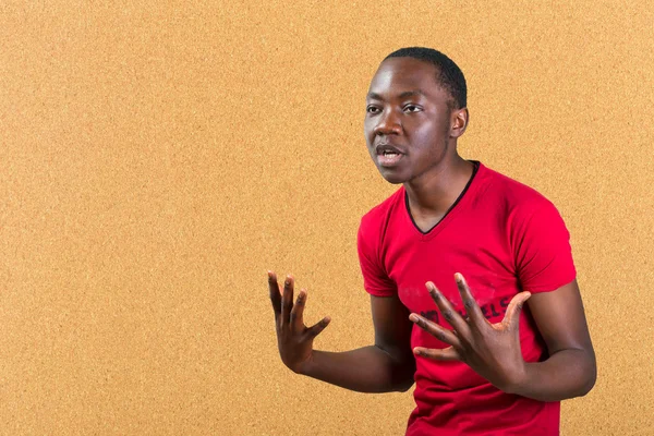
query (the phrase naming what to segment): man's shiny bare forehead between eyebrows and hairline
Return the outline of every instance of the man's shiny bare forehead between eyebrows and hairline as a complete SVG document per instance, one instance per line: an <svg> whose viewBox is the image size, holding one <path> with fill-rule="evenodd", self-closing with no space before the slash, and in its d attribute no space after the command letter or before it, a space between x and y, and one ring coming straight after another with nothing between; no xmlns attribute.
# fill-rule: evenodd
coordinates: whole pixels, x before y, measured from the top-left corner
<svg viewBox="0 0 654 436"><path fill-rule="evenodd" d="M370 94L393 97L407 92L443 97L443 87L435 65L413 58L389 58L382 62L373 76Z"/></svg>

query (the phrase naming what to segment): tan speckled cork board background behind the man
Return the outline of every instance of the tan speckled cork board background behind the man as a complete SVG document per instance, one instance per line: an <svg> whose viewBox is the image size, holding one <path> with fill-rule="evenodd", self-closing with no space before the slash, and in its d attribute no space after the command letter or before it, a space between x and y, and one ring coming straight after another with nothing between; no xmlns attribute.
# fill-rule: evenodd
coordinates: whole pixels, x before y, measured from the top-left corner
<svg viewBox="0 0 654 436"><path fill-rule="evenodd" d="M266 270L372 343L355 234L390 51L469 83L461 154L572 234L598 362L564 435L654 434L654 13L643 2L2 1L0 434L399 435L410 392L278 358Z"/></svg>

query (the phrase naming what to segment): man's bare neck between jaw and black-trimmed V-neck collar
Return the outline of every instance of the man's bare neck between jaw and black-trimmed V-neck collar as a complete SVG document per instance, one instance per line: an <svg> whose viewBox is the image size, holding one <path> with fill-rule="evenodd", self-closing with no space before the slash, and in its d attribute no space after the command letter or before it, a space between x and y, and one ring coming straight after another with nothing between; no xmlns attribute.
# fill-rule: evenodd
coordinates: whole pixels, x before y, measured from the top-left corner
<svg viewBox="0 0 654 436"><path fill-rule="evenodd" d="M457 201L472 177L473 164L458 154L404 183L412 211L441 216Z"/></svg>

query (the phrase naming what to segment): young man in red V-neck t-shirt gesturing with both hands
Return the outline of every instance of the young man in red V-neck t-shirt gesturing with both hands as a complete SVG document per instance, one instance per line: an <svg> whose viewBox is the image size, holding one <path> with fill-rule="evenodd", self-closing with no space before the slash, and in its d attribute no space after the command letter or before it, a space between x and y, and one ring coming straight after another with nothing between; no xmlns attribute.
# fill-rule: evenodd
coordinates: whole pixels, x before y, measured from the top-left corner
<svg viewBox="0 0 654 436"><path fill-rule="evenodd" d="M465 99L463 74L436 50L382 62L365 135L382 175L402 186L359 230L375 344L313 350L329 318L307 328L306 291L293 303L293 278L280 293L269 272L279 352L293 372L347 389L415 382L407 435L557 435L559 401L596 376L569 234L537 192L459 156Z"/></svg>

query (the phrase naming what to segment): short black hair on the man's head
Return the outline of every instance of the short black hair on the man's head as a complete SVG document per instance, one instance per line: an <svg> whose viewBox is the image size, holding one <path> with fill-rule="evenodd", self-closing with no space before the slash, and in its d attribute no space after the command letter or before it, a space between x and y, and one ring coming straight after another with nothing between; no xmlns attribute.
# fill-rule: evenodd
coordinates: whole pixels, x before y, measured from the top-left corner
<svg viewBox="0 0 654 436"><path fill-rule="evenodd" d="M455 61L440 51L425 47L405 47L393 51L384 60L388 58L413 58L432 63L438 70L436 80L455 100L455 109L468 106L468 87L463 72Z"/></svg>

